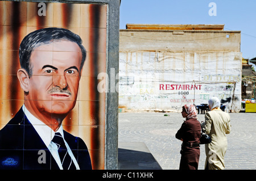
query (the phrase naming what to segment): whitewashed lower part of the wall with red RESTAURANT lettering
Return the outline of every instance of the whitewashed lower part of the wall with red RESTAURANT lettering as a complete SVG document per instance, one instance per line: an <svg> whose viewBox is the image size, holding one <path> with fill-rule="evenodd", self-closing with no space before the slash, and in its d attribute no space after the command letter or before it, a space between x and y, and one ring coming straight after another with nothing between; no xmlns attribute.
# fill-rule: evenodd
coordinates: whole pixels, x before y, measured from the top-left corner
<svg viewBox="0 0 256 181"><path fill-rule="evenodd" d="M138 51L119 57L119 105L125 110L181 111L212 96L226 111L241 109L240 52Z"/></svg>

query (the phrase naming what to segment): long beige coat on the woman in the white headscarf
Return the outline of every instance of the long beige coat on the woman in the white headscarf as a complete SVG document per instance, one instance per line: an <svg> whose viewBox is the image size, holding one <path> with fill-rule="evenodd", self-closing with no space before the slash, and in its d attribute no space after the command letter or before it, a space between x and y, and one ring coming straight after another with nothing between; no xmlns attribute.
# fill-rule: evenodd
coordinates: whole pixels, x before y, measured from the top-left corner
<svg viewBox="0 0 256 181"><path fill-rule="evenodd" d="M231 130L230 116L220 108L205 113L205 131L212 138L210 144L205 145L207 155L205 167L209 170L224 169L224 156L228 146L226 134Z"/></svg>

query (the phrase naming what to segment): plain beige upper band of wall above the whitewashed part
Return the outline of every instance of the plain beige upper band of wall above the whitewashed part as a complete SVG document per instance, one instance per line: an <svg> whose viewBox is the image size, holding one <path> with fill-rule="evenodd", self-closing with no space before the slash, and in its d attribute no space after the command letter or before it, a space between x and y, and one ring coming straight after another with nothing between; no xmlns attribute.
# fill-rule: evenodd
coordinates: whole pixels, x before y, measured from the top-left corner
<svg viewBox="0 0 256 181"><path fill-rule="evenodd" d="M121 51L240 52L240 31L120 30Z"/></svg>

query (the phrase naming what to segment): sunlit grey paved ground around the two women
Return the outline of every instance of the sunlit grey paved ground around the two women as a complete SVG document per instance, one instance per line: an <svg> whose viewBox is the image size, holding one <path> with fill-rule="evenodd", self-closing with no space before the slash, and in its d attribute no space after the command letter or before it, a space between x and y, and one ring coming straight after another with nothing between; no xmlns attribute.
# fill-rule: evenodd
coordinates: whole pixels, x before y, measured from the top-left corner
<svg viewBox="0 0 256 181"><path fill-rule="evenodd" d="M204 120L204 114L198 117ZM256 113L230 113L230 117L232 131L227 136L225 169L256 169ZM175 134L183 120L181 113L176 112L119 113L119 145L142 143L148 149L145 152L151 153L162 169L179 169L181 141ZM199 169L202 170L205 153L204 146L200 148ZM130 149L136 150L132 146Z"/></svg>

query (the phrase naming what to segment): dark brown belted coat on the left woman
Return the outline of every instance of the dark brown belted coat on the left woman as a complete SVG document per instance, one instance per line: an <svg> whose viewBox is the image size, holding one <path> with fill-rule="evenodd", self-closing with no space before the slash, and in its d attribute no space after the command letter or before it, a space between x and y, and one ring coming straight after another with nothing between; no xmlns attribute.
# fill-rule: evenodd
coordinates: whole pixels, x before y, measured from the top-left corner
<svg viewBox="0 0 256 181"><path fill-rule="evenodd" d="M199 144L201 136L201 125L196 119L188 119L181 125L175 137L179 140L183 139L181 146L180 170L197 170L200 157L200 147L184 146L186 142Z"/></svg>

